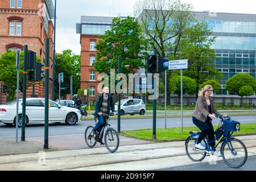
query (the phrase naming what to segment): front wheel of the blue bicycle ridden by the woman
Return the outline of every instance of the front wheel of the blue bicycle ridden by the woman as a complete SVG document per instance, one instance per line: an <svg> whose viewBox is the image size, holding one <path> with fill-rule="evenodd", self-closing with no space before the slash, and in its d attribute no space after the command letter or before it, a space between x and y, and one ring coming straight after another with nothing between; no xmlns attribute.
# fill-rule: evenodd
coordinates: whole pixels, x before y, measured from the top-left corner
<svg viewBox="0 0 256 182"><path fill-rule="evenodd" d="M232 168L243 166L247 160L247 149L241 140L232 138L221 148L222 159Z"/></svg>

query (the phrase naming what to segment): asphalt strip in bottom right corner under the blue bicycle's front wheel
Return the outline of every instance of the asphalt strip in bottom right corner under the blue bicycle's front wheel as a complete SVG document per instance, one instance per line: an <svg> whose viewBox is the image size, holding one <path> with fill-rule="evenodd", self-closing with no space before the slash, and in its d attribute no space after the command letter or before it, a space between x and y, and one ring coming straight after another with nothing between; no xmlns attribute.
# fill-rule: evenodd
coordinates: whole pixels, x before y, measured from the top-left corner
<svg viewBox="0 0 256 182"><path fill-rule="evenodd" d="M231 168L223 160L216 164L200 163L189 166L159 169L159 171L256 171L256 156L247 158L246 163L240 168Z"/></svg>

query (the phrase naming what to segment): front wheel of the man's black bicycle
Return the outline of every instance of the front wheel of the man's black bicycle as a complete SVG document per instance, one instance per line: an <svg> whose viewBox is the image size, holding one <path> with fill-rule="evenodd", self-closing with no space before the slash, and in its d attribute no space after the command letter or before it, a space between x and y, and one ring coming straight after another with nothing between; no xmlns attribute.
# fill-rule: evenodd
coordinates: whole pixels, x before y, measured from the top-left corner
<svg viewBox="0 0 256 182"><path fill-rule="evenodd" d="M108 148L110 152L113 153L117 151L117 148L119 147L119 136L115 129L109 128L106 130L104 140L106 148Z"/></svg>

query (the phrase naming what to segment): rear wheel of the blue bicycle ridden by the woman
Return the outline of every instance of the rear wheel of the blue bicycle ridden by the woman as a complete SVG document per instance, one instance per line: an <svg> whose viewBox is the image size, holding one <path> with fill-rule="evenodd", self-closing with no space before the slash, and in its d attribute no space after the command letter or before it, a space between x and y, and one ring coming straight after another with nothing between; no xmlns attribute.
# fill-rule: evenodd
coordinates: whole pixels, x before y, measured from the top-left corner
<svg viewBox="0 0 256 182"><path fill-rule="evenodd" d="M199 150L195 147L196 140L197 139L189 136L185 141L185 150L189 159L191 159L193 162L200 162L204 160L207 153L205 152L205 150ZM207 143L204 139L201 143L204 143L204 145L207 146Z"/></svg>

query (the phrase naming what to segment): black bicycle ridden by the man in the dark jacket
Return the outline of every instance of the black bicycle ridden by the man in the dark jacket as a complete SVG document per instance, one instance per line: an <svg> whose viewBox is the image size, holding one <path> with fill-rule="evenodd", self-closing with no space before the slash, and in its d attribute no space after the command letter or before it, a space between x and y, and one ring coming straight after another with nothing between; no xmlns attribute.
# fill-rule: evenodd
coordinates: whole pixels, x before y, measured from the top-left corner
<svg viewBox="0 0 256 182"><path fill-rule="evenodd" d="M85 138L85 142L89 147L94 147L96 145L97 142L101 142L101 137L102 135L104 135L104 142L106 145L106 148L108 148L108 150L110 152L115 152L117 151L118 147L119 147L119 135L117 133L117 131L115 129L113 129L109 122L109 116L113 115L112 113L110 115L108 114L102 114L103 117L105 118L105 122L104 125L100 128L100 130L93 132L93 126L88 126L85 129L85 134L84 134L84 138ZM96 118L95 118L95 123L96 123ZM105 131L106 129L106 131ZM105 132L104 132L105 131Z"/></svg>

